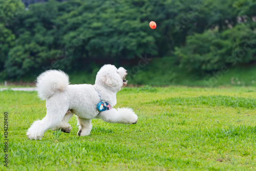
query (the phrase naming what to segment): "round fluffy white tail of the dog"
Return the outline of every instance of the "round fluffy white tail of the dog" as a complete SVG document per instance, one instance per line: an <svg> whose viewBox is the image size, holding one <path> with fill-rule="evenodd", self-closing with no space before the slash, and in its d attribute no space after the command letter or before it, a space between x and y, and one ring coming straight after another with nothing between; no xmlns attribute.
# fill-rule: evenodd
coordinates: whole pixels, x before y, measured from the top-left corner
<svg viewBox="0 0 256 171"><path fill-rule="evenodd" d="M69 76L60 70L48 70L36 79L38 96L42 100L50 98L57 90L65 91L69 85Z"/></svg>

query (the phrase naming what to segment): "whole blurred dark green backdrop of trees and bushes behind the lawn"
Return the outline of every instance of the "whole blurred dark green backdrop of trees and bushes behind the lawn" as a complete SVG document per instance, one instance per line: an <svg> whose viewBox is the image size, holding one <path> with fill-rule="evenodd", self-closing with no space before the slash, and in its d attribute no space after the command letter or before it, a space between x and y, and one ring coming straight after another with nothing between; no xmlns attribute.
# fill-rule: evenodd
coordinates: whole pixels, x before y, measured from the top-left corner
<svg viewBox="0 0 256 171"><path fill-rule="evenodd" d="M93 83L112 63L130 84L256 84L256 0L0 0L0 9L1 82L60 69Z"/></svg>

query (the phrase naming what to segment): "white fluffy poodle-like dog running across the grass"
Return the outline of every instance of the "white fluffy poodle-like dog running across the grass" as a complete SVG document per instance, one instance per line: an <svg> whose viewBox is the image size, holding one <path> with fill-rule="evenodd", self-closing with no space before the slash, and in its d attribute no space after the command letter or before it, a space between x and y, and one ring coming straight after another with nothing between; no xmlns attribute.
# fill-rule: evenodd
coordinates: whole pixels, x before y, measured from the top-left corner
<svg viewBox="0 0 256 171"><path fill-rule="evenodd" d="M41 139L47 130L61 129L69 133L69 119L77 116L78 136L90 135L92 119L105 122L135 124L138 117L132 109L114 109L116 94L127 84L127 71L104 65L97 73L95 84L69 85L69 77L62 71L48 70L37 77L38 96L46 100L47 114L36 120L27 132L29 139Z"/></svg>

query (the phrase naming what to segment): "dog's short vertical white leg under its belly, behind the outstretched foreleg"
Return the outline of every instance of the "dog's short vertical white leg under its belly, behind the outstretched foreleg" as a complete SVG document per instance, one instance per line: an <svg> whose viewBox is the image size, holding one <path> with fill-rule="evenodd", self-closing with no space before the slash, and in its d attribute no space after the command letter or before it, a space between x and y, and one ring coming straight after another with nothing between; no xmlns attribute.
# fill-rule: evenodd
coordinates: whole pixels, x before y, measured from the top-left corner
<svg viewBox="0 0 256 171"><path fill-rule="evenodd" d="M77 124L79 124L78 136L90 135L92 130L92 119L84 119L77 116Z"/></svg>

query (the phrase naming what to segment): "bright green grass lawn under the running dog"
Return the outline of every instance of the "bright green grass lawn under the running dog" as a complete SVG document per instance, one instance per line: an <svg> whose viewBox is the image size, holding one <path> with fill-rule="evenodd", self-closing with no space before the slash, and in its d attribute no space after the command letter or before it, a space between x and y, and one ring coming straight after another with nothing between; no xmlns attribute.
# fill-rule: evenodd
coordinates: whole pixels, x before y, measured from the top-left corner
<svg viewBox="0 0 256 171"><path fill-rule="evenodd" d="M255 87L124 88L115 106L134 109L134 125L92 121L90 136L47 131L28 140L46 115L36 92L0 92L1 165L8 112L9 170L256 170ZM53 134L55 133L55 135Z"/></svg>

